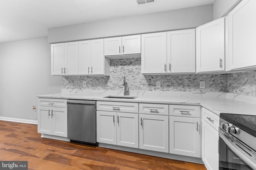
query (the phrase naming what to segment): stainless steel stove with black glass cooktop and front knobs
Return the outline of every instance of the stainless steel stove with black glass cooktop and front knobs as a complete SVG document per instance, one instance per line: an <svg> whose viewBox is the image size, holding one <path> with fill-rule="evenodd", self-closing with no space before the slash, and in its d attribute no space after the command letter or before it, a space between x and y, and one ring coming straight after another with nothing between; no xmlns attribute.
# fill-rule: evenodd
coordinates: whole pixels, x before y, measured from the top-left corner
<svg viewBox="0 0 256 170"><path fill-rule="evenodd" d="M256 170L256 116L220 113L219 170Z"/></svg>

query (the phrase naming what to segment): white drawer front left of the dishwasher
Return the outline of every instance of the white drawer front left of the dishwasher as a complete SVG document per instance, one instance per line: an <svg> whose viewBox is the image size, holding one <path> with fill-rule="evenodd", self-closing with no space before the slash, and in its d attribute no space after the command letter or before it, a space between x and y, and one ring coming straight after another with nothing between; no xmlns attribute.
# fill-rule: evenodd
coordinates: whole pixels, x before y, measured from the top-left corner
<svg viewBox="0 0 256 170"><path fill-rule="evenodd" d="M38 106L67 107L66 99L38 98Z"/></svg>

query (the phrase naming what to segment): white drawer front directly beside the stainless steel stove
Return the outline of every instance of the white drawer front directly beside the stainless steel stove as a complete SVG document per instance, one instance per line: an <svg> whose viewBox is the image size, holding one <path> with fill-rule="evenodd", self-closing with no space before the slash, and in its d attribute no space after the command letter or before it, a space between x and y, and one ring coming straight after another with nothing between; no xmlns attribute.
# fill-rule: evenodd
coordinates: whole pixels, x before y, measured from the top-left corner
<svg viewBox="0 0 256 170"><path fill-rule="evenodd" d="M202 107L202 117L207 123L214 127L214 129L219 131L220 116Z"/></svg>

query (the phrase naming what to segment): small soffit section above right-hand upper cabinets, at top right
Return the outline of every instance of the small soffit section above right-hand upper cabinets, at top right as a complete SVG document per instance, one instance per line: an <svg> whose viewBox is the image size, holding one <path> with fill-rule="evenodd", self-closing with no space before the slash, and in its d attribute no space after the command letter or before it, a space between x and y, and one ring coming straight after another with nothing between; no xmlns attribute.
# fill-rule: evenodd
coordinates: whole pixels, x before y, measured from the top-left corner
<svg viewBox="0 0 256 170"><path fill-rule="evenodd" d="M225 16L232 10L241 0L215 0L213 4L213 19Z"/></svg>

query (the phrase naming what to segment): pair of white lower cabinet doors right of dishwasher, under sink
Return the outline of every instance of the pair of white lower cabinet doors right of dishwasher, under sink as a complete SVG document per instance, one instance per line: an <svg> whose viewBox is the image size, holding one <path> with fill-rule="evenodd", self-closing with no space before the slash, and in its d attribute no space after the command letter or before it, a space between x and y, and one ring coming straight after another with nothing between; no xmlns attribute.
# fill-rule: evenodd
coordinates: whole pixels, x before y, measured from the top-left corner
<svg viewBox="0 0 256 170"><path fill-rule="evenodd" d="M138 114L97 111L97 142L138 148Z"/></svg>

